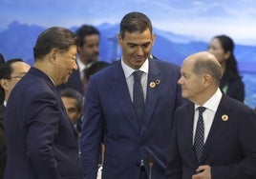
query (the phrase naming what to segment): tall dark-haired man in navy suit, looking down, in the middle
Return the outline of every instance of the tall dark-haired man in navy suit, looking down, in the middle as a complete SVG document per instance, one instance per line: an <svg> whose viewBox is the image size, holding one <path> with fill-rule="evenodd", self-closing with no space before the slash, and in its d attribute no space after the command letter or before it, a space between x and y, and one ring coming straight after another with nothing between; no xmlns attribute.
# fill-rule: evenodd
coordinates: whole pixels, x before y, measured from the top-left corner
<svg viewBox="0 0 256 179"><path fill-rule="evenodd" d="M164 179L173 115L183 102L177 84L180 68L149 58L155 35L143 13L126 14L117 38L121 60L92 75L86 91L80 147L83 167L88 179L96 178L103 141L105 179L151 175ZM142 74L139 82L134 82L134 72ZM133 89L134 84L139 84L139 90ZM143 108L136 108L139 97Z"/></svg>

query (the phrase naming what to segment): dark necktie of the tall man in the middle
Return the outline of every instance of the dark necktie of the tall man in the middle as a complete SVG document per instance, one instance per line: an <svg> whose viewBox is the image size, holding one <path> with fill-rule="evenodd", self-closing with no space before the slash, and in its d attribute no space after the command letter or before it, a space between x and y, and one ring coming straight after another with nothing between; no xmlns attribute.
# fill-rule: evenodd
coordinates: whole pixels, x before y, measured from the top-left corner
<svg viewBox="0 0 256 179"><path fill-rule="evenodd" d="M139 125L142 124L144 108L145 108L143 90L140 83L142 73L143 72L141 70L136 70L133 72L133 75L134 75L133 105L136 111L137 118L139 120Z"/></svg>

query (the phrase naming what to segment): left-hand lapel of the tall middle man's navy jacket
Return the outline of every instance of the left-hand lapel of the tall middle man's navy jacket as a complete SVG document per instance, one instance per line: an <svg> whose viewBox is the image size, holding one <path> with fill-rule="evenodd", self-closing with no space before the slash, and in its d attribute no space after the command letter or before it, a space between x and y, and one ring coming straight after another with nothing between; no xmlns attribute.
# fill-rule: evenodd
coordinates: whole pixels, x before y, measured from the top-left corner
<svg viewBox="0 0 256 179"><path fill-rule="evenodd" d="M113 72L111 76L111 89L116 97L117 105L122 110L125 119L131 123L133 128L139 133L139 121L136 117L135 110L133 109L132 100L127 87L124 72L121 67L121 61L113 64Z"/></svg>

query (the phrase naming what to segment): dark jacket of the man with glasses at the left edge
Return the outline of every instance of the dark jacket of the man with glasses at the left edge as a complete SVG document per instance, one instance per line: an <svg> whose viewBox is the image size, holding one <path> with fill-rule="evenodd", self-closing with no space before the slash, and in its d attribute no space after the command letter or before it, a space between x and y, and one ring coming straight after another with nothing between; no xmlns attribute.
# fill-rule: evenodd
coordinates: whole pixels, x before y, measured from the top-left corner
<svg viewBox="0 0 256 179"><path fill-rule="evenodd" d="M5 106L0 106L0 179L4 178L4 171L7 161L6 136L4 128L4 112Z"/></svg>

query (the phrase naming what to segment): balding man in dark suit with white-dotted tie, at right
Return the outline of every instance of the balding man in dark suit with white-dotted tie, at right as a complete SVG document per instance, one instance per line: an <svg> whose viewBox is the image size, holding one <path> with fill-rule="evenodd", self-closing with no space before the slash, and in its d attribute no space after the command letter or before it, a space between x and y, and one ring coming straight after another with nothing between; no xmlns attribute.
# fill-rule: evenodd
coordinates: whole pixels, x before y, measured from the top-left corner
<svg viewBox="0 0 256 179"><path fill-rule="evenodd" d="M206 51L181 66L168 179L253 179L256 177L256 113L219 89L223 70ZM204 110L204 111L203 111Z"/></svg>

